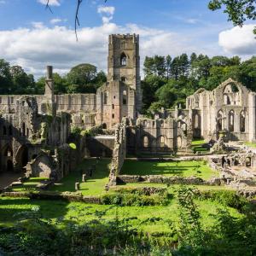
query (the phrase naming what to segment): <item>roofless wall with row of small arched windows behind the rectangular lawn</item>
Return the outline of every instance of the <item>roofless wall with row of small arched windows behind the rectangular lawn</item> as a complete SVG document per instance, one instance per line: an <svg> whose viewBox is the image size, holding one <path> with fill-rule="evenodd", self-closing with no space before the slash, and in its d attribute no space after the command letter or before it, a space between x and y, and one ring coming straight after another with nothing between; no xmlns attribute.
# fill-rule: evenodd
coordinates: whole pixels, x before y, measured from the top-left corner
<svg viewBox="0 0 256 256"><path fill-rule="evenodd" d="M187 150L193 137L190 123L185 113L180 113L177 119L139 118L136 126L127 129L127 148L131 154Z"/></svg>

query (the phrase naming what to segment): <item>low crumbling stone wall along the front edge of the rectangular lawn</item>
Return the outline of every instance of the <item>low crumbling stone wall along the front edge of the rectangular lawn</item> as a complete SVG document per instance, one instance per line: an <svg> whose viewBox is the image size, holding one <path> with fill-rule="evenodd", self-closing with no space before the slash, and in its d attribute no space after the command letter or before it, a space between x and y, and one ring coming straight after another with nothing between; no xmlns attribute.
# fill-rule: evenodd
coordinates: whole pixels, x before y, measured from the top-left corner
<svg viewBox="0 0 256 256"><path fill-rule="evenodd" d="M164 183L164 184L186 184L186 185L211 185L220 186L226 183L225 178L214 177L211 180L203 180L200 177L166 177L162 175L119 175L117 177L118 183Z"/></svg>

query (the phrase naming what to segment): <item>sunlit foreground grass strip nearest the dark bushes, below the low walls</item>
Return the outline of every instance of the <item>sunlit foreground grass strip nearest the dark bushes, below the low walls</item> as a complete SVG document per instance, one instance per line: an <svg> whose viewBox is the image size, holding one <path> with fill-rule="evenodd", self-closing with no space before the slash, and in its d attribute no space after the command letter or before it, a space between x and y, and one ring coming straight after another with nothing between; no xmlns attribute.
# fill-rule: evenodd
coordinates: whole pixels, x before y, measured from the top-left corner
<svg viewBox="0 0 256 256"><path fill-rule="evenodd" d="M215 201L195 201L201 213L201 223L204 226L212 226L215 218L212 214L218 209L224 209L221 204ZM31 211L32 207L40 207L42 218L50 218L53 221L62 219L62 224L76 220L83 224L91 219L98 218L101 215L103 220L113 220L117 216L122 218L133 218L130 224L138 230L152 233L164 233L170 231L170 224L176 224L178 221L177 199L174 196L167 206L157 207L116 207L85 204L82 202L67 201L44 201L30 200L27 198L9 198L0 197L0 225L12 225L17 220L15 213ZM240 217L241 213L234 208L227 208L234 217ZM152 218L159 218L154 221Z"/></svg>

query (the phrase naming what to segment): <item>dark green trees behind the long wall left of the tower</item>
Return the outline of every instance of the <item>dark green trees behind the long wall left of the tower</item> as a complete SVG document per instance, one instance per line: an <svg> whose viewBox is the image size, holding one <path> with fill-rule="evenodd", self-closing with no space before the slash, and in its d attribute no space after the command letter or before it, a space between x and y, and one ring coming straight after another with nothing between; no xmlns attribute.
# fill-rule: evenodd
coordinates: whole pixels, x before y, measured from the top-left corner
<svg viewBox="0 0 256 256"><path fill-rule="evenodd" d="M53 73L55 94L96 93L96 89L107 81L103 71L97 72L91 64L79 64L67 75ZM34 81L20 66L10 66L8 61L0 59L0 94L44 94L45 78Z"/></svg>

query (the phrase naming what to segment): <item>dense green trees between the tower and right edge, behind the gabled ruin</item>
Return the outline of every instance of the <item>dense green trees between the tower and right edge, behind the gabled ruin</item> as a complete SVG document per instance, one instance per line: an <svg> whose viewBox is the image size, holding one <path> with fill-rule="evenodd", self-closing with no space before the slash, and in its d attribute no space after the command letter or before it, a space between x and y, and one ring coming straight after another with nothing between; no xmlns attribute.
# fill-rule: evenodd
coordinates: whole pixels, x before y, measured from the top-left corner
<svg viewBox="0 0 256 256"><path fill-rule="evenodd" d="M193 53L146 57L143 88L143 113L152 117L160 108L185 107L185 99L200 87L213 90L226 79L235 79L256 90L256 58L241 62L238 56L196 55ZM161 60L161 61L160 61Z"/></svg>

